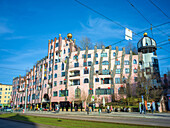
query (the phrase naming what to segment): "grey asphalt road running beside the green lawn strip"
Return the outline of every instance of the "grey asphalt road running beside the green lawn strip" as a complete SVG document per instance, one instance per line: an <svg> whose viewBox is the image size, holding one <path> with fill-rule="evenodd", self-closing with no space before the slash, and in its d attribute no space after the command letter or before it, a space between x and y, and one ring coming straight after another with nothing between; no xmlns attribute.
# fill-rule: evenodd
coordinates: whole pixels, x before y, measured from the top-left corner
<svg viewBox="0 0 170 128"><path fill-rule="evenodd" d="M170 127L170 118L149 118L149 117L118 117L118 116L97 116L97 115L66 115L66 114L34 114L26 113L26 115L53 117L63 119L76 119L86 121L100 121L109 123L123 123L123 124L136 124L136 125L150 125L150 126L164 126Z"/></svg>

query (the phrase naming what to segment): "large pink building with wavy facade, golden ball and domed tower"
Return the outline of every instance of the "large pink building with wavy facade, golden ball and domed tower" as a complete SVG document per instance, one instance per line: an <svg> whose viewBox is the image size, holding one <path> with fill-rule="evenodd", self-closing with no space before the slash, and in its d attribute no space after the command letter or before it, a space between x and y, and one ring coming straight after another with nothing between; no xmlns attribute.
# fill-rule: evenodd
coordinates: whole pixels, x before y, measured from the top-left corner
<svg viewBox="0 0 170 128"><path fill-rule="evenodd" d="M56 104L66 109L87 103L98 106L103 99L125 98L127 84L135 95L141 72L148 79L159 76L156 42L146 33L138 42L138 55L111 46L80 50L70 33L64 39L59 34L49 40L48 56L37 61L26 76L13 79L12 100L15 107L24 107L25 100L27 107L44 108L48 103L50 109Z"/></svg>

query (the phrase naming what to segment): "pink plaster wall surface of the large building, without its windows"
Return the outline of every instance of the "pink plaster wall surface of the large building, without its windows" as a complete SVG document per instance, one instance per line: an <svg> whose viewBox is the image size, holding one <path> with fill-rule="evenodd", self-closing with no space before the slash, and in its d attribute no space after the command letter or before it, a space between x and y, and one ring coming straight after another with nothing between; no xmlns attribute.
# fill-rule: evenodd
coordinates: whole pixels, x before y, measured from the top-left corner
<svg viewBox="0 0 170 128"><path fill-rule="evenodd" d="M52 40L51 40L52 41ZM72 44L72 47L70 48L70 50L72 50L72 53L71 53L71 56L69 58L69 69L68 69L68 86L67 86L67 89L69 90L68 92L68 96L67 96L67 101L76 101L75 99L75 89L78 87L81 89L81 98L80 100L85 100L88 96L88 91L89 91L89 83L84 83L84 78L88 78L89 79L89 74L90 74L90 68L91 66L86 66L88 69L89 69L89 74L84 74L84 69L85 69L85 66L83 66L83 63L84 63L84 59L82 58L82 55L85 54L85 50L81 50L80 51L80 54L78 56L78 62L79 62L79 67L74 67L74 63L76 63L76 59L74 60L73 59L73 56L75 54L78 54L78 51L76 51L76 47L75 46L75 43L71 40L62 40L61 37L59 37L59 40L56 39L56 42L59 43L59 47L56 47L56 48L51 48L51 45L54 46L54 41L49 41L49 48L48 48L48 57L47 58L44 58L42 59L41 61L39 61L37 63L37 65L35 66L35 68L33 68L33 70L31 70L29 73L28 73L28 76L27 78L30 78L30 80L28 80L26 83L25 81L22 84L29 84L29 88L28 88L28 95L32 95L32 94L35 94L35 95L38 95L39 93L39 99L36 99L36 100L30 100L30 102L27 102L28 104L36 104L36 103L41 103L41 100L43 99L44 97L44 94L48 94L49 98L51 98L51 102L61 102L61 101L65 101L65 97L59 97L59 90L65 90L65 85L62 84L60 85L60 81L64 81L65 79L65 76L62 77L61 76L61 72L63 72L61 70L61 64L64 63L65 65L65 69L66 69L66 63L65 63L65 58L66 56L69 56L69 53L68 53L68 48L70 48L70 44ZM66 41L68 43L68 46L66 46ZM54 51L55 50L55 51ZM62 50L60 52L60 56L59 55L56 55L56 52L58 50ZM65 54L63 54L63 51L66 51ZM101 51L102 49L97 49L97 53L98 53L98 57L96 58L96 61L98 61L98 63L100 63L100 58L101 58ZM104 51L105 53L107 53L107 57L103 57L103 61L108 61L109 60L109 49L105 49ZM114 65L115 65L115 58L113 56L113 53L116 52L116 50L111 50L111 70L113 70L114 68ZM53 56L50 58L50 53L53 53ZM94 50L88 50L88 54L91 54L91 58L87 58L87 61L92 61L93 62L93 57L94 57ZM129 60L129 54L125 54L125 57L124 57L124 60ZM55 63L55 59L60 59L60 62L58 63ZM137 60L137 64L133 64L133 60L136 59ZM49 61L53 60L54 63L52 64L49 64ZM122 60L122 51L119 51L118 52L118 60L120 61L120 64L121 64L121 60ZM45 63L48 64L48 67L47 67L47 80L44 80L44 65ZM54 67L52 65L58 65L58 69L57 70L54 70ZM40 67L40 65L42 65L42 69L38 69L37 67ZM49 71L49 67L51 66L51 71ZM124 65L124 68L123 68L123 76L125 76L126 78L129 76L129 74L126 74L125 73L125 68L129 68L130 65ZM117 65L117 68L121 68L121 65ZM133 55L132 56L132 74L131 74L131 84L133 84L132 86L132 91L135 92L135 86L136 86L136 83L134 82L134 77L137 77L137 73L134 73L133 72L133 69L134 68L138 68L138 55ZM108 65L103 65L102 66L102 69L108 69ZM37 70L37 72L36 72ZM75 71L75 70L79 70L80 71L80 76L75 76L75 77L69 77L69 72L71 71ZM99 87L100 88L108 88L108 87L111 87L111 84L101 84L101 79L102 78L111 78L111 75L99 75L99 74L96 74L95 71L96 70L99 70L99 64L94 64L94 76L93 76L93 95L95 96L95 98L97 100L101 100L104 97L106 97L106 99L108 99L107 101L108 102L111 102L111 95L100 95L100 96L97 96L95 94L95 90L98 89ZM65 70L64 70L65 71ZM51 75L53 73L53 78L48 80L48 77L49 75ZM35 79L35 74L37 74L37 79ZM57 78L54 78L54 75L57 74ZM32 76L34 76L34 79L32 80ZM120 74L115 74L115 78L119 77L120 78ZM99 82L95 82L95 78L99 78ZM35 82L35 80L39 81L41 79L41 82L37 83L36 85L33 85L33 82ZM80 80L80 85L74 85L74 86L71 86L69 84L69 81L71 80L74 80L74 79L79 79ZM19 78L15 78L13 80L13 87L14 87L14 90L13 90L13 103L15 105L19 105L19 104L24 104L24 101L21 102L18 102L16 101L16 97L18 96L19 98L22 96L25 96L25 93L26 92L23 92L22 94L21 93L18 93L17 91L17 85L15 82L17 82L19 80ZM49 87L49 84L48 82L51 82L52 84L54 84L54 81L57 81L57 85L56 86L53 86L52 89L49 89L48 91L48 87ZM115 81L115 79L114 79ZM46 84L46 87L45 87L45 84ZM42 85L43 85L43 88L42 88ZM119 87L121 86L126 86L125 84L115 84L115 87L114 87L114 93L116 95L116 99L120 99L120 96L118 94L118 89ZM41 90L38 91L36 90L37 86L41 86ZM30 91L30 89L32 89L32 91ZM24 90L24 89L23 89ZM34 90L34 91L33 91ZM54 91L57 91L58 92L58 95L57 96L53 96L53 92ZM15 94L16 92L16 94ZM135 94L135 93L134 93ZM125 98L125 96L124 96Z"/></svg>

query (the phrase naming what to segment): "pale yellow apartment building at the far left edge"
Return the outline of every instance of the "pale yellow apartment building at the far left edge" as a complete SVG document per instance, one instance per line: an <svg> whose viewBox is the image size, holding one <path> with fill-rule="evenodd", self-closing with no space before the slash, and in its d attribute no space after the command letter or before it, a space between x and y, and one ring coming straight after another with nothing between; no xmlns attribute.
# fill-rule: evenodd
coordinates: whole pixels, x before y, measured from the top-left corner
<svg viewBox="0 0 170 128"><path fill-rule="evenodd" d="M0 83L0 108L11 106L12 85Z"/></svg>

